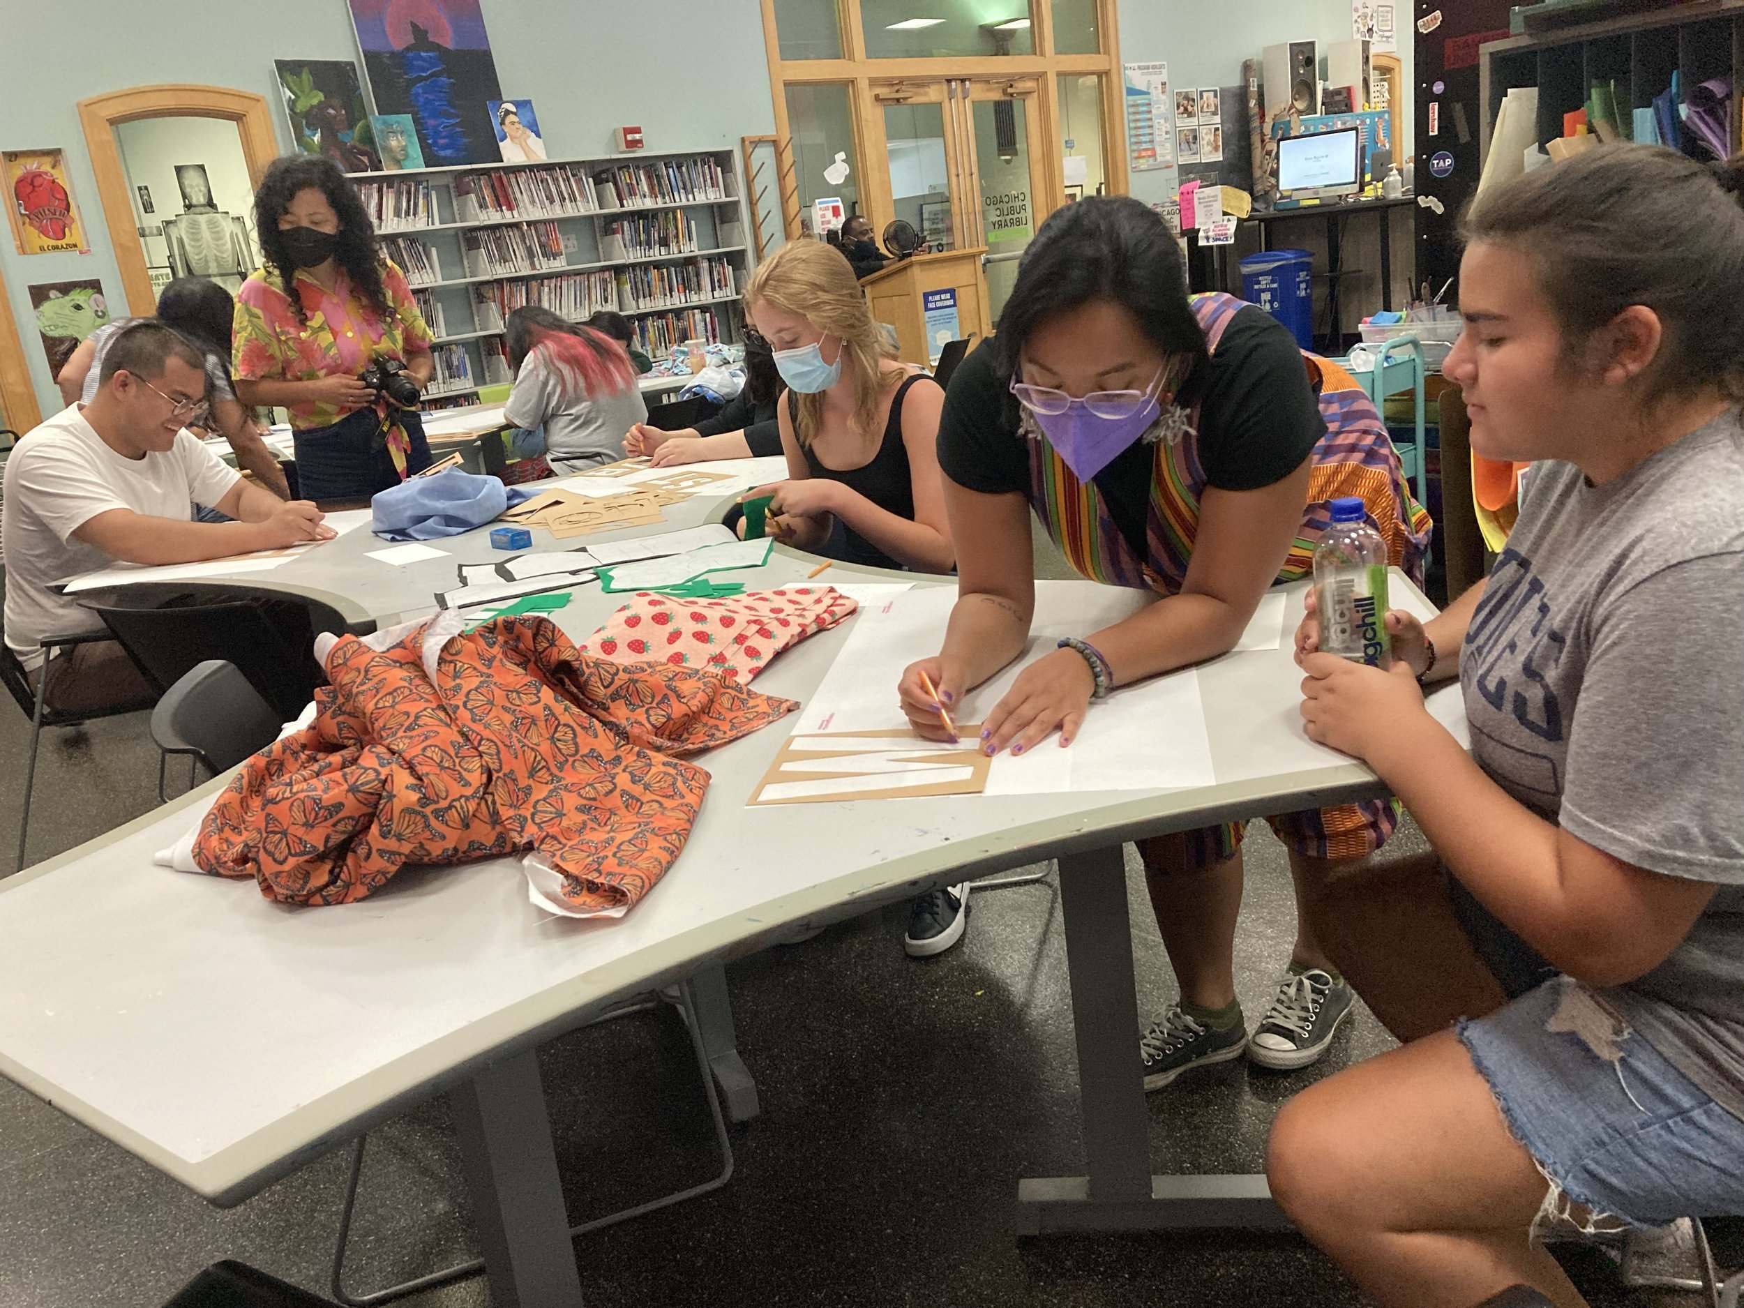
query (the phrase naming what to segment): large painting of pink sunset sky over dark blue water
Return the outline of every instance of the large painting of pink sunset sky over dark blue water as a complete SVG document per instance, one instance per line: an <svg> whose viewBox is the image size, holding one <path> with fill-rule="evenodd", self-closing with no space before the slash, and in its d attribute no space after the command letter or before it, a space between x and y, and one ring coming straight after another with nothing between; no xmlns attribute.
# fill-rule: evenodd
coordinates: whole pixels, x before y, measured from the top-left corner
<svg viewBox="0 0 1744 1308"><path fill-rule="evenodd" d="M478 0L349 0L377 113L410 113L429 167L495 164L502 99Z"/></svg>

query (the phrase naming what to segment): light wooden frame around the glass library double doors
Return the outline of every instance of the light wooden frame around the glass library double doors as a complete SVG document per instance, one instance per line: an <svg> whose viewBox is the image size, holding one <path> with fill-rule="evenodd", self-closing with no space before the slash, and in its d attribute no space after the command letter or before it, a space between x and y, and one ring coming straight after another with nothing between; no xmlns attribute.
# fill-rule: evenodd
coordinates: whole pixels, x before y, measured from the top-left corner
<svg viewBox="0 0 1744 1308"><path fill-rule="evenodd" d="M856 166L862 167L862 183L867 181L865 160L870 157L872 140L869 126L874 110L881 108L872 99L872 82L909 78L916 82L937 82L950 78L987 78L987 77L1034 77L1038 80L1036 103L1039 112L1038 133L1046 148L1043 150L1045 190L1036 204L1036 221L1041 221L1066 202L1066 183L1062 166L1053 159L1053 141L1060 140L1059 122L1059 78L1062 75L1097 73L1102 77L1102 176L1109 195L1125 195L1128 190L1127 150L1125 150L1125 82L1120 63L1120 21L1116 14L1118 0L1095 0L1097 30L1100 33L1100 54L1013 54L1013 56L949 56L926 59L867 59L865 31L860 17L860 0L835 0L837 24L842 33L841 59L783 59L780 35L776 33L774 0L759 0L764 23L764 51L769 61L769 98L774 108L774 131L783 141L792 143L792 129L787 119L787 87L795 82L832 82L848 85L849 112L855 115L855 153ZM1031 0L1031 37L1038 51L1053 49L1053 3L1052 0ZM882 136L882 115L879 119L879 136ZM888 169L886 169L888 173ZM889 178L882 183L872 178L872 185L862 185L862 197L879 195L879 188L889 188ZM1045 208L1043 208L1045 204ZM882 213L869 211L867 216L889 221L893 209L886 195ZM788 239L799 237L799 187L783 192L783 223Z"/></svg>

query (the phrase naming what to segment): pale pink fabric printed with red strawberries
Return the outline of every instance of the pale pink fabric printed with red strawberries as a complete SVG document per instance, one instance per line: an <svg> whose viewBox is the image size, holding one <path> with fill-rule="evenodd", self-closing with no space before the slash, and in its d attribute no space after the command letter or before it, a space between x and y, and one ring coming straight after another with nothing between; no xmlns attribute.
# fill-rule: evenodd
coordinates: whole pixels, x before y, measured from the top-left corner
<svg viewBox="0 0 1744 1308"><path fill-rule="evenodd" d="M834 586L792 586L731 600L637 591L581 651L626 664L701 668L743 684L783 649L827 631L858 607Z"/></svg>

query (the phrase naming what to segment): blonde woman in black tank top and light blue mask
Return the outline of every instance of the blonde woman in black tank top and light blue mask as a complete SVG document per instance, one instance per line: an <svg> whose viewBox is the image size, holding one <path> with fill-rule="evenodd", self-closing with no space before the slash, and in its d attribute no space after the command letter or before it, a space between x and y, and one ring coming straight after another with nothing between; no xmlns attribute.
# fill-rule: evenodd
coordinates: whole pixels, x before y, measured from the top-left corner
<svg viewBox="0 0 1744 1308"><path fill-rule="evenodd" d="M950 572L935 452L945 392L891 358L848 262L795 241L757 269L745 302L788 387L787 480L746 494L774 497L776 539L853 563Z"/></svg>

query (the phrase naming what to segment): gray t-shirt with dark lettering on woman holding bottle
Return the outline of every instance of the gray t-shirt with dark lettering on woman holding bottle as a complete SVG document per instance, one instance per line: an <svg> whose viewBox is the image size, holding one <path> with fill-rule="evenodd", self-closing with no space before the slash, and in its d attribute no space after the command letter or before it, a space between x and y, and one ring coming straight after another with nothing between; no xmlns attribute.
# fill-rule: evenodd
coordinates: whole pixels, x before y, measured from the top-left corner
<svg viewBox="0 0 1744 1308"><path fill-rule="evenodd" d="M1744 431L1615 481L1528 476L1460 656L1479 766L1571 835L1718 882L1671 957L1604 998L1744 1118Z"/></svg>

